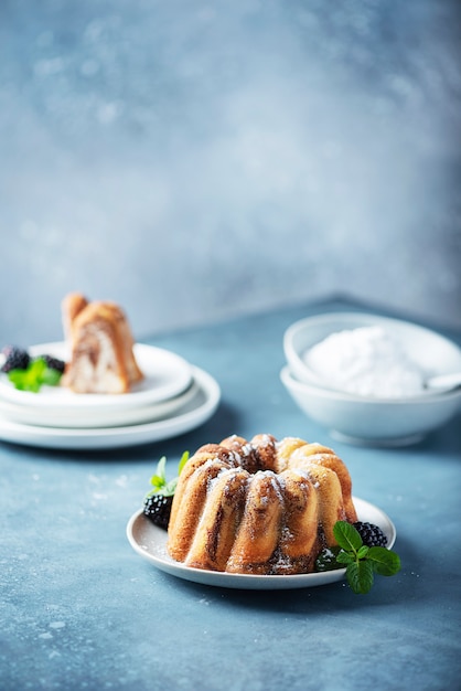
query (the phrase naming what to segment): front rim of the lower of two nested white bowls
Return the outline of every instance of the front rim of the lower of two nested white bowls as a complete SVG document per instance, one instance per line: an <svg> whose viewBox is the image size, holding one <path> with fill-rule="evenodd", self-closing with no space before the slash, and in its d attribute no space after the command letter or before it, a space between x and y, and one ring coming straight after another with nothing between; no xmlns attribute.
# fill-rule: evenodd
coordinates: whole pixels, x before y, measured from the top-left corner
<svg viewBox="0 0 461 691"><path fill-rule="evenodd" d="M317 386L315 384L310 384L307 382L301 382L296 378L293 372L290 370L289 364L285 364L280 370L280 380L287 389L296 389L300 393L313 393L317 396L322 398L328 398L331 401L337 401L341 403L351 403L354 404L366 404L372 406L379 405L395 405L395 406L408 406L408 405L428 405L428 404L437 404L444 403L451 400L461 398L461 389L457 389L454 391L449 392L436 392L436 393L426 393L419 396L399 396L394 398L384 398L377 396L361 396L358 394L353 394L344 391L339 391L336 389L328 389L326 386Z"/></svg>

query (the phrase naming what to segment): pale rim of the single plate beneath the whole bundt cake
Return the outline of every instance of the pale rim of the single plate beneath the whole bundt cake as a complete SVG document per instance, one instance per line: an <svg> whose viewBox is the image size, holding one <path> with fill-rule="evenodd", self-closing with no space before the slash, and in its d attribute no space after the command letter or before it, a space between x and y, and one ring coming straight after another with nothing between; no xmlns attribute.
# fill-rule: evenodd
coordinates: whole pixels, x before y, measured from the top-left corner
<svg viewBox="0 0 461 691"><path fill-rule="evenodd" d="M380 528L385 531L388 538L387 548L390 550L396 541L397 531L392 519L379 507L361 499L353 497L355 508L357 510L358 520L366 520L368 513L377 513L382 521ZM368 519L369 520L369 519ZM304 587L318 587L322 585L329 585L342 581L345 577L345 568L336 568L334 571L326 571L322 573L310 574L293 574L293 575L256 575L256 574L230 574L226 572L210 571L203 568L194 568L185 566L180 562L168 555L164 557L156 555L148 551L146 546L139 544L135 538L135 527L138 521L146 521L146 525L154 535L164 535L163 542L167 544L168 533L163 529L154 525L147 517L144 517L142 509L136 511L128 520L126 527L126 535L133 551L139 554L143 560L148 561L159 571L173 575L183 581L190 581L193 583L200 583L202 585L211 585L215 587L226 587L235 589L294 589ZM379 525L379 522L377 523ZM162 545L162 546L164 546Z"/></svg>

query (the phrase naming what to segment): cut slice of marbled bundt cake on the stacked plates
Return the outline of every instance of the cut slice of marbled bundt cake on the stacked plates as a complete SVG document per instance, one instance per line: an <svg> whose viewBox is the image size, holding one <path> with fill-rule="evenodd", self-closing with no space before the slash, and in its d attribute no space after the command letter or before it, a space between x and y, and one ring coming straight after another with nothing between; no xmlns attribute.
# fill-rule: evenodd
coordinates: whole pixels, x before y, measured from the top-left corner
<svg viewBox="0 0 461 691"><path fill-rule="evenodd" d="M76 393L127 393L143 374L128 320L115 302L88 302L79 294L62 305L71 350L62 384Z"/></svg>

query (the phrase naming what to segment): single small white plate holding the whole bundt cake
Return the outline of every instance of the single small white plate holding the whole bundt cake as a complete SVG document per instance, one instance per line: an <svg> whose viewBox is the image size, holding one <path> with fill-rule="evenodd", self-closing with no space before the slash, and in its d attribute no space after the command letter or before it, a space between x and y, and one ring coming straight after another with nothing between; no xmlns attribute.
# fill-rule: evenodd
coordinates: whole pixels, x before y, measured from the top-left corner
<svg viewBox="0 0 461 691"><path fill-rule="evenodd" d="M388 548L395 543L396 529L392 520L377 507L354 497L354 504L360 521L368 521L379 525L388 541ZM345 577L345 568L323 573L297 574L292 576L256 576L251 574L230 574L219 571L191 568L175 562L167 552L167 531L154 525L143 513L137 511L128 521L127 536L135 552L148 562L173 576L225 588L254 591L285 591L328 585Z"/></svg>

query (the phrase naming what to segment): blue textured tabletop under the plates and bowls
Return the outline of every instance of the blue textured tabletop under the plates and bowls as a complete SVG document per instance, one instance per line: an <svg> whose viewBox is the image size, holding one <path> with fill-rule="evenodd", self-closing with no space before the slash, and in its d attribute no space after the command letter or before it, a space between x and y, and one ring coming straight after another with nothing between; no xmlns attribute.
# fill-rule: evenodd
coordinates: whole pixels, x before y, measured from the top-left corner
<svg viewBox="0 0 461 691"><path fill-rule="evenodd" d="M307 419L279 380L285 329L345 309L369 311L329 300L152 339L222 387L216 414L180 437L98 453L0 443L0 689L461 688L460 416L416 446L347 446ZM173 475L184 449L260 432L336 450L354 495L396 524L398 575L378 576L367 595L344 582L224 589L132 551L127 521L160 456Z"/></svg>

